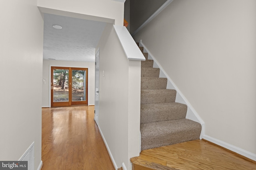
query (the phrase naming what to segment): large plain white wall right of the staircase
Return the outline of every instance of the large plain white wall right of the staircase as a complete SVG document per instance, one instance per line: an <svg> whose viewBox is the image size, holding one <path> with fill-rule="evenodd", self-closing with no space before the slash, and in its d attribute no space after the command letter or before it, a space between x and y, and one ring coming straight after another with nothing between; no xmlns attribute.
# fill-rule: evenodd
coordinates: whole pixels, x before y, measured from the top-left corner
<svg viewBox="0 0 256 170"><path fill-rule="evenodd" d="M134 38L205 122L205 134L256 154L256 1L174 0Z"/></svg>

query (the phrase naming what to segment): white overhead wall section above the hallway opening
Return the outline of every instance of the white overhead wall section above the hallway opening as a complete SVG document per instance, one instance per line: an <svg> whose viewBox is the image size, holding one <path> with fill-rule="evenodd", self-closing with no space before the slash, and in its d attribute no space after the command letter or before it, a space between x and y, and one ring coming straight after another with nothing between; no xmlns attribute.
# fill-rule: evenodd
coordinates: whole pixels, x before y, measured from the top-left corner
<svg viewBox="0 0 256 170"><path fill-rule="evenodd" d="M114 0L38 0L38 6L42 8L50 8L58 11L73 12L87 15L88 18L95 20L95 17L115 20L116 25L124 23L124 2ZM46 9L44 9L46 10ZM56 15L61 15L54 13ZM70 16L72 17L72 16ZM97 20L98 20L97 19Z"/></svg>

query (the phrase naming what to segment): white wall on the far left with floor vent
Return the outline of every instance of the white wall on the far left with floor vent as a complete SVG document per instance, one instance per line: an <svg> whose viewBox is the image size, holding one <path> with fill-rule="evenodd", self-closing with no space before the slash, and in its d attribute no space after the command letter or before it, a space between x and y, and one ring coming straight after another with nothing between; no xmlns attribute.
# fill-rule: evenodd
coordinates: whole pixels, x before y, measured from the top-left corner
<svg viewBox="0 0 256 170"><path fill-rule="evenodd" d="M34 143L41 161L43 18L37 0L0 2L0 160L18 160Z"/></svg>

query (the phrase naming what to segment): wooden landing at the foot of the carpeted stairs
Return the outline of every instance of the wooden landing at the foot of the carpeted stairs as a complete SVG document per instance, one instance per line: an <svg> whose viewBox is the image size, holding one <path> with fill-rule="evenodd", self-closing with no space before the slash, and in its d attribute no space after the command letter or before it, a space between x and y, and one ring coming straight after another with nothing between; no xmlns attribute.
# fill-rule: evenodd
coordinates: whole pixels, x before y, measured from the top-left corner
<svg viewBox="0 0 256 170"><path fill-rule="evenodd" d="M130 160L132 170L256 170L255 161L202 140L142 150Z"/></svg>

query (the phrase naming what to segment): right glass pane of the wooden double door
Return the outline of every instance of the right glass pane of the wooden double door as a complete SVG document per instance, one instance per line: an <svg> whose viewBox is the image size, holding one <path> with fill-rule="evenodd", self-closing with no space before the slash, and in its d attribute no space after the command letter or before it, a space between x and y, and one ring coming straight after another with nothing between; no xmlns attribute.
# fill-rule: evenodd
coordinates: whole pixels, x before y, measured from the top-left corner
<svg viewBox="0 0 256 170"><path fill-rule="evenodd" d="M72 101L86 101L86 70L72 70Z"/></svg>

